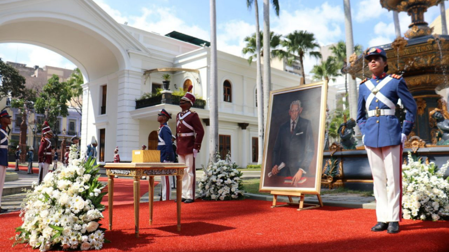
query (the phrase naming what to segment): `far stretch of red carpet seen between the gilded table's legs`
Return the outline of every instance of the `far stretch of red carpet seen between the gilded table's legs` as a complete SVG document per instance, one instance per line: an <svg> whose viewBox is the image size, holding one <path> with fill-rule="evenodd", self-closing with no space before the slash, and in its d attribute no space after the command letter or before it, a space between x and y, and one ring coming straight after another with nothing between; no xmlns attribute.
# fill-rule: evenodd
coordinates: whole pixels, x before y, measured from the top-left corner
<svg viewBox="0 0 449 252"><path fill-rule="evenodd" d="M102 182L107 182L108 178L101 177L98 179ZM159 182L154 182L154 186L159 184ZM108 186L103 189L103 192L108 190ZM134 203L134 187L133 180L126 178L114 178L114 206L115 205L126 205ZM140 197L148 192L148 180L140 180ZM103 197L101 204L108 205L108 194Z"/></svg>

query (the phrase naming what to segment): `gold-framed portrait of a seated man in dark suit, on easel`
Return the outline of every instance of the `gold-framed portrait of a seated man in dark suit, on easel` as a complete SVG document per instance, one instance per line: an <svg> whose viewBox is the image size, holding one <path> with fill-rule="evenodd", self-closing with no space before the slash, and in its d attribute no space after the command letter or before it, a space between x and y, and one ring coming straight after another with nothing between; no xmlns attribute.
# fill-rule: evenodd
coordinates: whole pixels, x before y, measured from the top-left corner
<svg viewBox="0 0 449 252"><path fill-rule="evenodd" d="M319 194L327 82L270 93L260 191Z"/></svg>

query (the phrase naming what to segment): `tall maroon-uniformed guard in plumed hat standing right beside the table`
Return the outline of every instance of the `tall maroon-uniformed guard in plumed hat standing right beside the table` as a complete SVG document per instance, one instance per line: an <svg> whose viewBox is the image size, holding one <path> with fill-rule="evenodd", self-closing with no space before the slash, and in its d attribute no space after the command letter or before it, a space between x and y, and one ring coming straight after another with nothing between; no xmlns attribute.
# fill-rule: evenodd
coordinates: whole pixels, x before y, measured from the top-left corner
<svg viewBox="0 0 449 252"><path fill-rule="evenodd" d="M195 95L192 94L193 86L189 87L186 95L181 98L179 106L182 112L176 116L176 133L177 133L177 153L180 163L185 163L183 176L183 195L184 203L192 203L195 201L195 158L201 148L203 141L204 128L200 117L197 113L190 110L195 103Z"/></svg>

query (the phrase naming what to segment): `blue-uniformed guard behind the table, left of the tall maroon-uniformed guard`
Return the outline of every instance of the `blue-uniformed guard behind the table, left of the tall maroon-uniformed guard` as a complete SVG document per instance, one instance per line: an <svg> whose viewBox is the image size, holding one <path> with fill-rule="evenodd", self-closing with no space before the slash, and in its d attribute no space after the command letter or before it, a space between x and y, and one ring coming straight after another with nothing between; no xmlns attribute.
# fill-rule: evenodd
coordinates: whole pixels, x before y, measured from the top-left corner
<svg viewBox="0 0 449 252"><path fill-rule="evenodd" d="M158 150L161 151L161 162L163 163L173 163L175 161L175 153L172 146L172 130L167 125L170 119L172 119L172 116L164 109L158 114L158 122L161 124L158 133ZM170 176L161 176L161 180L162 200L170 200L173 180L170 179Z"/></svg>

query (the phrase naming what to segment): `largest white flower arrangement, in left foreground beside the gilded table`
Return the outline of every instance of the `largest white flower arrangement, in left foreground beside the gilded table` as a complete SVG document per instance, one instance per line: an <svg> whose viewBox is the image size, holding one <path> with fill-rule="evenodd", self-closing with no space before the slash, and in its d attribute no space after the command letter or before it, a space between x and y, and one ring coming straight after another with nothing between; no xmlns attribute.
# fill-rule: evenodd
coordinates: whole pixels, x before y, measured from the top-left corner
<svg viewBox="0 0 449 252"><path fill-rule="evenodd" d="M107 192L101 192L98 165L77 153L72 145L68 166L48 173L42 184L34 182L33 190L27 190L14 245L27 243L40 251L99 250L109 242L99 224L105 209L100 202Z"/></svg>

